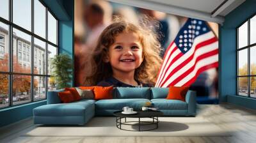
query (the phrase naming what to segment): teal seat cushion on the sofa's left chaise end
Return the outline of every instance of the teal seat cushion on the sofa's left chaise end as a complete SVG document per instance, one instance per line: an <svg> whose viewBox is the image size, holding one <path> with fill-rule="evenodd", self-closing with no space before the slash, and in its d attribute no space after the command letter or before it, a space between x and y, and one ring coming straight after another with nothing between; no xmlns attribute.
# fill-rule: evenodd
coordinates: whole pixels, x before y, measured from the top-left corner
<svg viewBox="0 0 256 143"><path fill-rule="evenodd" d="M74 102L42 105L33 111L34 116L84 116L84 112L91 109L94 109L91 102Z"/></svg>

